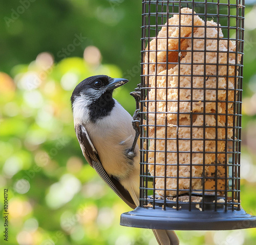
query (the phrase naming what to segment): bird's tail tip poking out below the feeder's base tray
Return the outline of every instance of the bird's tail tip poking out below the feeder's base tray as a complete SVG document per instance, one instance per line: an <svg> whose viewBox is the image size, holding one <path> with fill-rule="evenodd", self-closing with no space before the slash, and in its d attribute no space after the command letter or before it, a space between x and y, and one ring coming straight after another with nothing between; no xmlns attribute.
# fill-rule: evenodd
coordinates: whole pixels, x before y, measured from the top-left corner
<svg viewBox="0 0 256 245"><path fill-rule="evenodd" d="M180 241L174 231L153 230L159 245L179 245Z"/></svg>

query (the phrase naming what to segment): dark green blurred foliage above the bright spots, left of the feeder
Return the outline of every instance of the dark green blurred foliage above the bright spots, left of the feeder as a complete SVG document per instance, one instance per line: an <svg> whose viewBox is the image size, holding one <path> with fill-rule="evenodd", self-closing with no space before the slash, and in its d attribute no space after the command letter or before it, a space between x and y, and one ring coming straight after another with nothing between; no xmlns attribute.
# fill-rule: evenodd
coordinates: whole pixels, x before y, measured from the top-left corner
<svg viewBox="0 0 256 245"><path fill-rule="evenodd" d="M82 57L84 48L94 45L100 47L104 63L119 64L129 73L140 61L140 24L137 0L3 1L0 57L5 59L0 60L1 70L9 73L13 64L28 63L45 51L56 61ZM70 44L75 34L85 39L73 49Z"/></svg>

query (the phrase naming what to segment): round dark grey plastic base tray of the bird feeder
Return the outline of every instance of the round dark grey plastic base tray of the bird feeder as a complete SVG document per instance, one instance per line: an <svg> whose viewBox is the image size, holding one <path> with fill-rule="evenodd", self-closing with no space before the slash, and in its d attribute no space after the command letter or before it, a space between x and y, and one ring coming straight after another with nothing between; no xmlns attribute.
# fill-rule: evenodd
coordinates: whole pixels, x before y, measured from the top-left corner
<svg viewBox="0 0 256 245"><path fill-rule="evenodd" d="M194 197L200 198L200 201L203 198L198 195ZM195 202L191 205L179 203L177 211L176 202L167 204L163 210L161 199L155 201L155 208L153 209L151 207L153 202L150 202L151 196L149 196L148 207L137 207L134 211L123 213L120 224L129 227L162 230L237 230L256 226L256 217L247 214L243 208L232 210L231 207L227 207L225 211L224 199L219 198L218 201L221 202L215 206L212 205L214 196L204 196L204 198L204 210L202 210L201 204Z"/></svg>

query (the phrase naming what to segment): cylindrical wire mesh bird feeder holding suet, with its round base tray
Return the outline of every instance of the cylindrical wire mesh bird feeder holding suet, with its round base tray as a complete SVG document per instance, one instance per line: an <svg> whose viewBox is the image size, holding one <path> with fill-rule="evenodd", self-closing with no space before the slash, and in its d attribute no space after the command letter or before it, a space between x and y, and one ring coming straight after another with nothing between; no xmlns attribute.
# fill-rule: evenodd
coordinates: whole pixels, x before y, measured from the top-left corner
<svg viewBox="0 0 256 245"><path fill-rule="evenodd" d="M256 227L240 200L244 8L142 1L140 206L121 225Z"/></svg>

